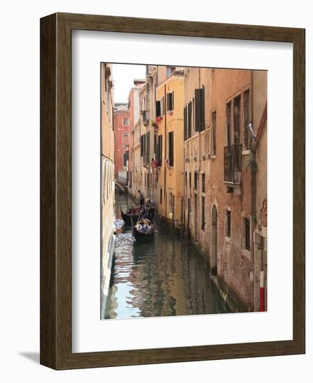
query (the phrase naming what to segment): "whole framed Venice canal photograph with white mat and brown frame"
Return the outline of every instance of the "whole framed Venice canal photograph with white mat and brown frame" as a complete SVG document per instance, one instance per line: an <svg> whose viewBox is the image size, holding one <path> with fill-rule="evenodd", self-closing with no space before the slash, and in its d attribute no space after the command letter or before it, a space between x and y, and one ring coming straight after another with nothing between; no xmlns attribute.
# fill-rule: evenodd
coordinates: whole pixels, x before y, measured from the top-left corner
<svg viewBox="0 0 313 383"><path fill-rule="evenodd" d="M40 363L305 353L305 30L40 36Z"/></svg>

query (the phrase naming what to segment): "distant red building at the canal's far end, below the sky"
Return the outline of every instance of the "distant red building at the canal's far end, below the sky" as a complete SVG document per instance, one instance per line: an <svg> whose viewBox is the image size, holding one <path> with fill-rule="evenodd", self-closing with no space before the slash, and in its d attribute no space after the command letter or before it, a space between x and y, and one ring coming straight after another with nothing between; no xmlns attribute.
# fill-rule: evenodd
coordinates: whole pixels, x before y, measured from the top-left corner
<svg viewBox="0 0 313 383"><path fill-rule="evenodd" d="M127 104L115 104L113 126L115 180L127 186L129 163L129 110Z"/></svg>

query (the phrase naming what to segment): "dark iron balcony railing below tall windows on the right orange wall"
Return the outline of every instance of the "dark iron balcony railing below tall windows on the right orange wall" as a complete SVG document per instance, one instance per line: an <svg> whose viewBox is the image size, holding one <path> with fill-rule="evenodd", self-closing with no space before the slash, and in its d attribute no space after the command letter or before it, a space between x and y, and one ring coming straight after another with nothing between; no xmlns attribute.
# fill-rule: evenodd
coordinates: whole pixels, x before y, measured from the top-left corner
<svg viewBox="0 0 313 383"><path fill-rule="evenodd" d="M224 147L224 181L241 182L241 143Z"/></svg>

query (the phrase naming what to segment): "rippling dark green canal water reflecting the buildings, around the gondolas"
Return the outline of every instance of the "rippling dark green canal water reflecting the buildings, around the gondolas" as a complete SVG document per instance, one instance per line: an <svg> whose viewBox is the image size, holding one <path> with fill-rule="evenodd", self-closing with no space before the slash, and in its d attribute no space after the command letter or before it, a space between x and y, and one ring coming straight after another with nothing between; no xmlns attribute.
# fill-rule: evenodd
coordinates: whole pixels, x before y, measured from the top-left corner
<svg viewBox="0 0 313 383"><path fill-rule="evenodd" d="M120 205L127 210L124 194L115 195L117 235L105 318L227 312L200 254L165 230L158 218L154 240L136 243L131 227L122 221Z"/></svg>

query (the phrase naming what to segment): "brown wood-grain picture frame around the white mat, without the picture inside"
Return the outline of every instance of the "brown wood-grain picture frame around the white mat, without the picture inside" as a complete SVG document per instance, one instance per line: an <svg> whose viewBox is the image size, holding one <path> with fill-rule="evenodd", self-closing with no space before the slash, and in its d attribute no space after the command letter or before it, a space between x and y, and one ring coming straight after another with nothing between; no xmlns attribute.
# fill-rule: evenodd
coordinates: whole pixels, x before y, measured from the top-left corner
<svg viewBox="0 0 313 383"><path fill-rule="evenodd" d="M293 339L72 353L72 30L291 42L294 47ZM40 363L56 370L305 352L305 30L55 13L40 20Z"/></svg>

